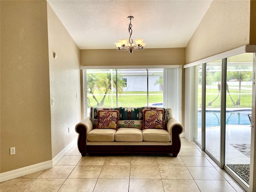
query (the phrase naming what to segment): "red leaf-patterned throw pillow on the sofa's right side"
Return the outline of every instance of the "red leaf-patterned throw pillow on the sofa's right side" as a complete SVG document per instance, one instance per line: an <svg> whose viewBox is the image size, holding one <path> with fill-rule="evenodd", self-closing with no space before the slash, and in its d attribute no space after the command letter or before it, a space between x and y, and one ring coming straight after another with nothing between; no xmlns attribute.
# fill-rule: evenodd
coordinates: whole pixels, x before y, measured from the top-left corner
<svg viewBox="0 0 256 192"><path fill-rule="evenodd" d="M143 110L143 129L165 129L164 110Z"/></svg>

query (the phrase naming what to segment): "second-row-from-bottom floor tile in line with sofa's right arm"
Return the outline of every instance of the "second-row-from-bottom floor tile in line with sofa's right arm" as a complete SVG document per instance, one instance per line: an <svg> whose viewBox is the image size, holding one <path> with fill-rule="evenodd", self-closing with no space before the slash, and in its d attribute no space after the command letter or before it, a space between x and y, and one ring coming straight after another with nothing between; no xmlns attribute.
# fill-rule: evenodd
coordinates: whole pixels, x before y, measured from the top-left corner
<svg viewBox="0 0 256 192"><path fill-rule="evenodd" d="M162 179L193 180L188 169L182 166L159 166Z"/></svg>

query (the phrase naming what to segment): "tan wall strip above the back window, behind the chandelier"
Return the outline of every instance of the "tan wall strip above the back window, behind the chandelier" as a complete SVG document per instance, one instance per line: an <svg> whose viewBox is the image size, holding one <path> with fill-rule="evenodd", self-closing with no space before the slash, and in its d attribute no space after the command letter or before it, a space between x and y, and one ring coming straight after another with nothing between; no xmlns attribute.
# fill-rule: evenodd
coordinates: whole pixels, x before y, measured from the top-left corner
<svg viewBox="0 0 256 192"><path fill-rule="evenodd" d="M145 49L133 52L115 49L80 50L81 66L184 65L185 48Z"/></svg>

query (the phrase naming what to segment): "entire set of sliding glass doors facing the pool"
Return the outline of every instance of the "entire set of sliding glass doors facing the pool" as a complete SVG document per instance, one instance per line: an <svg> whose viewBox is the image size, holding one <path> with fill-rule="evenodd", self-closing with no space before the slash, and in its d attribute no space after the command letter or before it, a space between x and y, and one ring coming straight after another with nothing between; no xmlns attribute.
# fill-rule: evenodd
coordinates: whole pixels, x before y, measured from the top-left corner
<svg viewBox="0 0 256 192"><path fill-rule="evenodd" d="M253 58L244 53L194 66L194 140L244 188L250 182Z"/></svg>

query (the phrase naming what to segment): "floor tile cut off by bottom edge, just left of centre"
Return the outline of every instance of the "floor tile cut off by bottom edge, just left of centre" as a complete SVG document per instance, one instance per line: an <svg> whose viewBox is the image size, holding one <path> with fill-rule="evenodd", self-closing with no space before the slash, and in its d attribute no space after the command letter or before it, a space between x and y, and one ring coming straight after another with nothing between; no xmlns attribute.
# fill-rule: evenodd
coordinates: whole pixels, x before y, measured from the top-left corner
<svg viewBox="0 0 256 192"><path fill-rule="evenodd" d="M93 192L128 192L129 179L98 179Z"/></svg>

